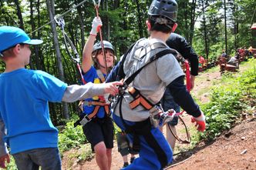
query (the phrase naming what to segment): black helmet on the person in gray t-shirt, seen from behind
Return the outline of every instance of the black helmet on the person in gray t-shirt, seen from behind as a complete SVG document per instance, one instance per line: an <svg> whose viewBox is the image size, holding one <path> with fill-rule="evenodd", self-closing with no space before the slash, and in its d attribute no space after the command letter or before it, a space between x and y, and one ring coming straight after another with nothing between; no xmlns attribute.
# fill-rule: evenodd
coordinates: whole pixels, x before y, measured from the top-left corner
<svg viewBox="0 0 256 170"><path fill-rule="evenodd" d="M148 15L163 16L177 22L178 5L175 0L153 0Z"/></svg>

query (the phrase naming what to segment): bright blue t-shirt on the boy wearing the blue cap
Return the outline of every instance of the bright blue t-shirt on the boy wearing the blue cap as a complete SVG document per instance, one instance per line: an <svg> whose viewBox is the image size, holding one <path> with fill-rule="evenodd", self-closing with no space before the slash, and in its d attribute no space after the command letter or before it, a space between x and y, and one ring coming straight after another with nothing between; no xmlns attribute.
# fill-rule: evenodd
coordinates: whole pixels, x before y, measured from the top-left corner
<svg viewBox="0 0 256 170"><path fill-rule="evenodd" d="M66 83L42 71L25 68L0 75L0 119L11 154L58 146L58 130L48 102L61 102Z"/></svg>

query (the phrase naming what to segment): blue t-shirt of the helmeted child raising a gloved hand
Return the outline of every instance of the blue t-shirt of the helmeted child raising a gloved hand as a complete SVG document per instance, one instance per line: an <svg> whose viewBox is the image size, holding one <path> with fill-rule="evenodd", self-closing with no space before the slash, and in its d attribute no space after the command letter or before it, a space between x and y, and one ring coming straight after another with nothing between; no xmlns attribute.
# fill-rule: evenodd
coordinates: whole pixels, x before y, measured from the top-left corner
<svg viewBox="0 0 256 170"><path fill-rule="evenodd" d="M103 74L103 76L106 78L105 74ZM89 68L89 71L83 75L83 78L85 79L86 82L93 82L96 84L102 83L102 82L100 82L99 75L97 75L96 68L94 68L93 66L91 68ZM87 98L86 101L99 101L99 96L94 96L93 98ZM83 114L84 115L91 114L93 112L94 108L95 108L95 105L84 105L83 106ZM100 106L99 112L97 113L97 117L104 118L104 116L105 116L104 107Z"/></svg>

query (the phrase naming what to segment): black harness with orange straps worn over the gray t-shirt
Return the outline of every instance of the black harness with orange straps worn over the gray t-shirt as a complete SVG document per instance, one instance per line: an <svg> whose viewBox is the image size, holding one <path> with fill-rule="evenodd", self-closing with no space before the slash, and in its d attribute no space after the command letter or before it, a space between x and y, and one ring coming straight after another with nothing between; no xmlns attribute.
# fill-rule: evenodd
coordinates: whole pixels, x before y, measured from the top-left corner
<svg viewBox="0 0 256 170"><path fill-rule="evenodd" d="M122 62L124 62L126 55L130 52L131 48L133 48L133 45L126 51L126 54L123 56ZM163 45L162 43L155 43L151 46L154 46L154 48L166 48L166 46ZM119 108L120 109L120 118L123 122L123 125L126 128L125 132L128 134L131 133L134 135L133 146L131 149L135 152L140 151L139 135L143 135L145 138L153 138L152 134L150 134L150 127L152 125L152 122L151 122L150 118L147 118L147 120L145 120L143 122L135 122L135 125L127 125L123 119L123 113L122 113L122 107L121 107L121 103L123 100L123 93L126 90L126 88L128 88L128 85L130 85L130 83L133 82L133 79L136 77L136 75L138 75L140 73L140 71L143 68L145 68L147 65L150 65L150 63L157 60L157 58L160 58L163 55L167 55L167 54L177 55L177 52L173 49L166 48L160 52L157 52L156 55L153 55L148 62L146 62L142 67L140 67L138 70L136 70L136 72L133 72L133 74L130 75L130 77L125 79L125 81L123 82L123 85L120 86L120 94L116 95L116 101L114 101L116 103L120 102L120 108ZM147 55L147 53L145 55ZM143 57L141 57L141 58L143 58ZM121 65L123 65L122 62L120 63ZM120 72L120 71L121 71L121 69L119 69L118 72ZM120 73L118 73L118 76L120 76ZM123 77L123 75L121 75L121 77ZM144 98L143 95L141 95L140 92L136 90L136 88L133 88L133 87L128 88L128 92L130 93L130 95L133 96L133 99L134 99L132 102L130 102L130 106L132 108L136 108L138 105L143 105L143 107L147 110L151 110L152 108L155 108L155 105L151 104L147 100L147 98ZM114 107L116 107L116 106L114 106ZM158 114L158 112L156 114ZM159 155L161 155L161 154L162 153L159 153ZM163 162L161 162L161 163L163 163Z"/></svg>

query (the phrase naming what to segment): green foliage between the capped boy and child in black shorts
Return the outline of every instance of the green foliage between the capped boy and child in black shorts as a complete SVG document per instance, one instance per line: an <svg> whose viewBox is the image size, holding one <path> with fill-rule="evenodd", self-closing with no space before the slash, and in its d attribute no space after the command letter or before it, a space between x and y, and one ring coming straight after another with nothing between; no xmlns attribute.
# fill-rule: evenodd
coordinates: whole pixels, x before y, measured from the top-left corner
<svg viewBox="0 0 256 170"><path fill-rule="evenodd" d="M65 128L59 132L59 151L65 152L87 142L81 125L74 128L74 121L66 123Z"/></svg>

